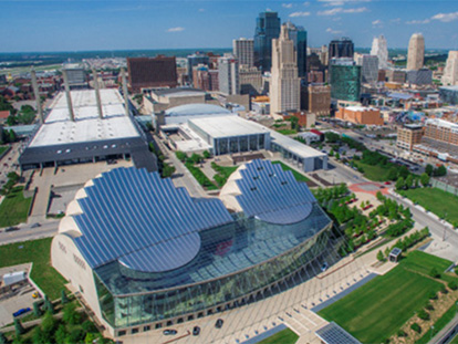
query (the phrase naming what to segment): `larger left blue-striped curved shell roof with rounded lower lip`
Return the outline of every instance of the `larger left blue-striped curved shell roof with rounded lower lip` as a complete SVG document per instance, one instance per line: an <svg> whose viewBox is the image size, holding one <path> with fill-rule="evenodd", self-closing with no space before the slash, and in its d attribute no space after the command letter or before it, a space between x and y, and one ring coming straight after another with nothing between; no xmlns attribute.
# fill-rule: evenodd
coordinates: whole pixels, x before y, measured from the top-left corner
<svg viewBox="0 0 458 344"><path fill-rule="evenodd" d="M232 222L220 200L195 200L157 173L117 168L93 183L74 216L75 243L93 269L117 260L136 271L173 270L199 252L198 231Z"/></svg>

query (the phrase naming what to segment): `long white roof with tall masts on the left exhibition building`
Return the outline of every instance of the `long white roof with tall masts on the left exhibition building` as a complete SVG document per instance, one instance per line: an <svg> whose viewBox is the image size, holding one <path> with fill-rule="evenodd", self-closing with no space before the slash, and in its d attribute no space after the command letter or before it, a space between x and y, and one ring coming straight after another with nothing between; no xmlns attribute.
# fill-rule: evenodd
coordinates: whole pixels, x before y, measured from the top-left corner
<svg viewBox="0 0 458 344"><path fill-rule="evenodd" d="M71 91L71 95L75 121L70 119L65 93L59 93L30 147L139 137L131 117L125 114L118 91L101 90L102 119L98 118L95 91Z"/></svg>

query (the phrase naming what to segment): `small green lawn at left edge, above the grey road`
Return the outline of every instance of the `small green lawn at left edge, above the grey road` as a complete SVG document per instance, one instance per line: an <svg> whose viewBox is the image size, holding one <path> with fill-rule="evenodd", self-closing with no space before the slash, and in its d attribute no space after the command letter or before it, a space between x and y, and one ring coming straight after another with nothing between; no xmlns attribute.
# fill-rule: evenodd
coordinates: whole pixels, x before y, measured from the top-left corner
<svg viewBox="0 0 458 344"><path fill-rule="evenodd" d="M32 198L24 198L22 187L15 187L0 205L0 227L25 222Z"/></svg>

